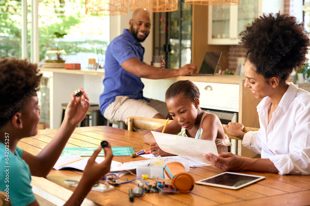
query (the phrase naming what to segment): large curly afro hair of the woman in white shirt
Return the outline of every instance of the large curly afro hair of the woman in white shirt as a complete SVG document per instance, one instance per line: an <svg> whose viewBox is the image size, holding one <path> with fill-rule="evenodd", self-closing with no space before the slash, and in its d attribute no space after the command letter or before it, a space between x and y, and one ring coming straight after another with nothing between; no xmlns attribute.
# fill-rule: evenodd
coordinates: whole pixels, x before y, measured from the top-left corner
<svg viewBox="0 0 310 206"><path fill-rule="evenodd" d="M307 61L308 32L296 17L287 14L263 14L240 33L248 60L257 74L265 79L279 76L282 84L293 69L298 70Z"/></svg>

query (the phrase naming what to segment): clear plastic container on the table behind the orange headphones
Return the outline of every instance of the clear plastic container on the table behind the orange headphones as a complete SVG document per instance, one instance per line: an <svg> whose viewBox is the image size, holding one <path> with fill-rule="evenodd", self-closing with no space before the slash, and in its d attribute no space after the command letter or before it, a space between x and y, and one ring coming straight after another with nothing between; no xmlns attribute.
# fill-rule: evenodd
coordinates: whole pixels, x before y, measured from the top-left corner
<svg viewBox="0 0 310 206"><path fill-rule="evenodd" d="M185 170L188 172L189 171L189 159L178 159L178 158L165 158L161 157L161 161L164 163L167 162L180 162ZM163 165L165 166L165 164ZM148 175L148 178L156 178L156 179L169 179L165 172L164 172L164 167L162 166L156 166L153 163L145 162L137 165L136 168L137 172L137 177L142 177L144 174Z"/></svg>

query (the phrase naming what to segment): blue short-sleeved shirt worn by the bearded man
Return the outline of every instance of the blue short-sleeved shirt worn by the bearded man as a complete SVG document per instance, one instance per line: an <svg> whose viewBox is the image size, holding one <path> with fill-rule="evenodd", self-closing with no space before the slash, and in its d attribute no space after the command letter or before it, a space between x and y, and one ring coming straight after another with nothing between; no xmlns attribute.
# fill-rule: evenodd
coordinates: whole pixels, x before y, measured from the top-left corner
<svg viewBox="0 0 310 206"><path fill-rule="evenodd" d="M122 68L121 64L133 57L143 62L144 47L135 40L127 29L113 39L105 52L104 91L100 95L100 111L104 114L108 105L116 96L128 96L131 99L143 97L144 84L141 79Z"/></svg>

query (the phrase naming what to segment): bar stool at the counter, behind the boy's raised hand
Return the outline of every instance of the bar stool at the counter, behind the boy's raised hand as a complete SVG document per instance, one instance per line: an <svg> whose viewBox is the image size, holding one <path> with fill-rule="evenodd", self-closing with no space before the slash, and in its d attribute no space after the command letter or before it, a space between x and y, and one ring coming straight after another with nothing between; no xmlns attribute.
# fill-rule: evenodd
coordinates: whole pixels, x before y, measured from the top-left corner
<svg viewBox="0 0 310 206"><path fill-rule="evenodd" d="M64 112L67 108L68 103L61 104L60 110L60 125L64 120ZM89 123L91 120L91 124ZM82 122L78 124L78 127L88 127L88 126L99 126L99 125L106 125L106 119L101 115L100 106L98 104L91 103L86 116Z"/></svg>

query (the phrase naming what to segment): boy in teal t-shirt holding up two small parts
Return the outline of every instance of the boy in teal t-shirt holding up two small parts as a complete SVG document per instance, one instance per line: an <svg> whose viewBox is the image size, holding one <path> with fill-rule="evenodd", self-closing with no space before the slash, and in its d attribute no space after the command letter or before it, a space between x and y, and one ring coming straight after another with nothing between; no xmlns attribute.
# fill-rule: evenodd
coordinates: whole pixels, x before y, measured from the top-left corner
<svg viewBox="0 0 310 206"><path fill-rule="evenodd" d="M41 110L38 108L37 90L42 74L38 66L26 60L0 60L0 191L12 206L38 206L31 190L31 175L46 177L58 160L76 126L85 118L90 103L83 89L82 96L72 94L64 121L55 137L36 156L24 152L16 145L24 137L38 132ZM82 179L65 206L80 205L91 187L110 170L113 157L110 144L104 148L105 161L95 158L101 146L93 153Z"/></svg>

